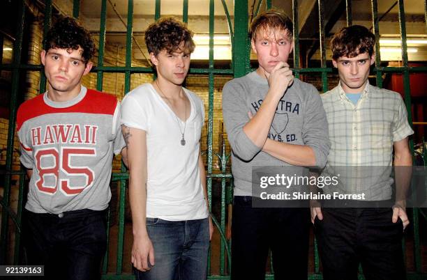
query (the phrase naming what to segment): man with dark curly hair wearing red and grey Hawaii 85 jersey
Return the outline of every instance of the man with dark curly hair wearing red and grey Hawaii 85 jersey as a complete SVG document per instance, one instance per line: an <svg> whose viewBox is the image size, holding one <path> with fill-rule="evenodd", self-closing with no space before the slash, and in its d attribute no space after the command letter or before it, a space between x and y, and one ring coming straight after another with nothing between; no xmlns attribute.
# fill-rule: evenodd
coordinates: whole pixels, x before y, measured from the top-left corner
<svg viewBox="0 0 427 280"><path fill-rule="evenodd" d="M30 178L24 210L27 263L45 265L48 279L100 278L107 246L112 157L124 141L114 95L81 84L94 52L89 32L61 17L41 52L47 91L17 112L20 160Z"/></svg>

